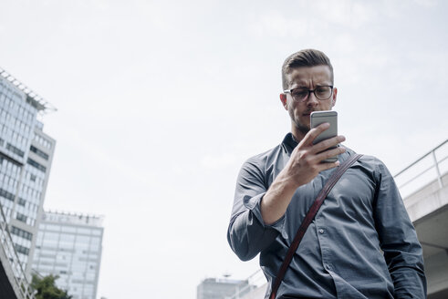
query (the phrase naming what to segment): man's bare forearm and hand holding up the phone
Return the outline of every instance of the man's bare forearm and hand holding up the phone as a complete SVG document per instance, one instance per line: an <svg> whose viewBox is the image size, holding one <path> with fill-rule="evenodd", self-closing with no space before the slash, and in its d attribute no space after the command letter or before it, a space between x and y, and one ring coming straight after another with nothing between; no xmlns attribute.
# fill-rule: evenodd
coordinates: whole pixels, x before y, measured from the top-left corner
<svg viewBox="0 0 448 299"><path fill-rule="evenodd" d="M314 139L329 128L328 123L310 129L304 139L298 143L291 153L287 165L278 174L266 191L261 201L261 215L266 224L272 224L280 219L287 211L287 206L298 187L307 184L318 176L322 170L328 170L339 165L339 161L322 163L330 157L337 156L345 151L342 147L335 147L345 140L343 136L336 136L313 144Z"/></svg>

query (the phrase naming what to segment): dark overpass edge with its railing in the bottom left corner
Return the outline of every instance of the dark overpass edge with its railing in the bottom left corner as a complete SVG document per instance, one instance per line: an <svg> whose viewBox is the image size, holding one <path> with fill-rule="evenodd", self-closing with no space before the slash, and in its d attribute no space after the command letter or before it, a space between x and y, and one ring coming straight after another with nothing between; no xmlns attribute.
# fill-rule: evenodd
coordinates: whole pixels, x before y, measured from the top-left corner
<svg viewBox="0 0 448 299"><path fill-rule="evenodd" d="M35 299L26 281L0 206L0 298Z"/></svg>

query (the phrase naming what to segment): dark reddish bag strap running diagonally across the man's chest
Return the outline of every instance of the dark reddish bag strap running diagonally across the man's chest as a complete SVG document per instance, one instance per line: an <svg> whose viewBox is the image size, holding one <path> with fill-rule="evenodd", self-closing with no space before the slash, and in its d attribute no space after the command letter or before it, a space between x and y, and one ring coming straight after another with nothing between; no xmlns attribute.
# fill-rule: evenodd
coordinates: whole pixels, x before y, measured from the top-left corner
<svg viewBox="0 0 448 299"><path fill-rule="evenodd" d="M283 278L285 277L285 273L287 272L287 268L289 267L289 263L291 263L291 260L293 259L294 253L297 251L298 244L300 241L302 241L302 238L307 232L307 228L309 224L313 221L314 217L318 213L318 209L322 205L322 203L327 198L327 195L329 191L333 188L333 186L338 182L342 174L346 170L349 169L353 163L358 160L362 155L356 154L354 156L351 156L348 160L345 160L339 167L333 172L331 177L329 177L327 183L325 184L324 188L318 193L318 197L314 201L311 208L309 208L307 212L307 216L305 216L304 221L302 224L300 224L300 227L297 230L296 237L294 237L293 242L291 243L291 246L289 246L289 249L287 251L287 256L285 257L285 260L282 263L282 266L280 267L280 270L278 271L276 275L276 280L274 281L274 284L272 286L271 295L269 296L269 299L275 299L276 298L276 291L278 290L278 287L282 283Z"/></svg>

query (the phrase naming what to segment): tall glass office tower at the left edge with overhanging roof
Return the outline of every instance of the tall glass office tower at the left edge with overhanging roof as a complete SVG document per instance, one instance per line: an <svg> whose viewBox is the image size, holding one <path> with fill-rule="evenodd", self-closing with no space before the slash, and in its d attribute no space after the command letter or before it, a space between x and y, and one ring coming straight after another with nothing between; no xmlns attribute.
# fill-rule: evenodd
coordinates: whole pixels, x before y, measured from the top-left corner
<svg viewBox="0 0 448 299"><path fill-rule="evenodd" d="M52 110L0 68L0 207L28 276L56 144L38 119Z"/></svg>

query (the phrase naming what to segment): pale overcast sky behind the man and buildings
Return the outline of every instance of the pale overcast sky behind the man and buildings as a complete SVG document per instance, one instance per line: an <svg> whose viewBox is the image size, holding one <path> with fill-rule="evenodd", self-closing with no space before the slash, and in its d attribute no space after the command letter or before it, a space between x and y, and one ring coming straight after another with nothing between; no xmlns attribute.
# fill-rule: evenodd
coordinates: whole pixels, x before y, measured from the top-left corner
<svg viewBox="0 0 448 299"><path fill-rule="evenodd" d="M446 1L0 0L0 67L46 98L47 210L105 216L98 297L245 278L242 163L290 128L280 67L330 57L345 145L396 173L448 137Z"/></svg>

